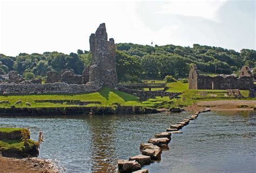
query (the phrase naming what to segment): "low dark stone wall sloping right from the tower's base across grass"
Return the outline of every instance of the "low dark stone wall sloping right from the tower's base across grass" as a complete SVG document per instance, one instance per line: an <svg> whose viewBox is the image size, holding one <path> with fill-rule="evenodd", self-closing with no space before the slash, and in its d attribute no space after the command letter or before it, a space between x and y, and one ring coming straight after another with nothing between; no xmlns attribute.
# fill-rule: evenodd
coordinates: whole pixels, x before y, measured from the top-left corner
<svg viewBox="0 0 256 173"><path fill-rule="evenodd" d="M178 96L181 92L165 92L165 91L141 91L141 90L134 90L124 87L119 87L119 91L130 93L130 95L134 95L139 97L142 101L147 100L149 98L155 98L157 96L164 97L168 96L170 99Z"/></svg>

